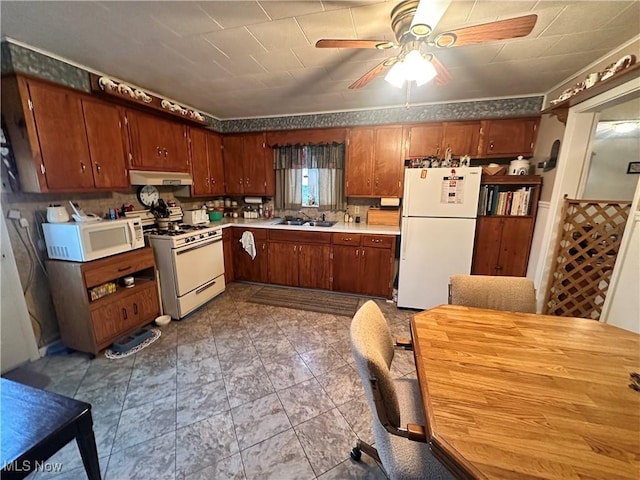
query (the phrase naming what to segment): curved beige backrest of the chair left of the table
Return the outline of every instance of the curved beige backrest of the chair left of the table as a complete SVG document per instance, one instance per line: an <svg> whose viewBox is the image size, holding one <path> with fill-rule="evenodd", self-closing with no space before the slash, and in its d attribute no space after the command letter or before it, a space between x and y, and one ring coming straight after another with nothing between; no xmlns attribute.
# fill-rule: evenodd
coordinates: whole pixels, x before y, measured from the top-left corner
<svg viewBox="0 0 640 480"><path fill-rule="evenodd" d="M387 425L399 428L400 406L389 371L394 355L393 339L375 302L369 300L360 307L351 321L350 333L351 351L369 406L385 428Z"/></svg>

